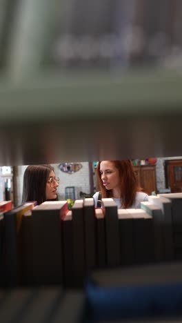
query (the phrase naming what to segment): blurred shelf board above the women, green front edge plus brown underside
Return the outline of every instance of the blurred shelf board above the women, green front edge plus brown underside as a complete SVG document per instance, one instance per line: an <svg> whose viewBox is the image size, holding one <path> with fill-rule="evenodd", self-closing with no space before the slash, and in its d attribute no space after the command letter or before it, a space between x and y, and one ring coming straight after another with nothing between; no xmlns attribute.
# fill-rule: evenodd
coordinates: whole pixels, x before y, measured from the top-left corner
<svg viewBox="0 0 182 323"><path fill-rule="evenodd" d="M154 69L1 75L0 165L180 156L181 83Z"/></svg>

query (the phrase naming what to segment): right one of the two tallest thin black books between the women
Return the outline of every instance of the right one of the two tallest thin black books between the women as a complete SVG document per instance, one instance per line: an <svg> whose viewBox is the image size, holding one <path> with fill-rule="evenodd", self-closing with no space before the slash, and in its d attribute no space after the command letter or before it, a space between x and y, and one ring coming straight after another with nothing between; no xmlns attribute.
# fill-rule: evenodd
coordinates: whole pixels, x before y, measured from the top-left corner
<svg viewBox="0 0 182 323"><path fill-rule="evenodd" d="M94 199L92 197L85 198L83 202L83 225L85 237L85 265L89 270L96 265Z"/></svg>

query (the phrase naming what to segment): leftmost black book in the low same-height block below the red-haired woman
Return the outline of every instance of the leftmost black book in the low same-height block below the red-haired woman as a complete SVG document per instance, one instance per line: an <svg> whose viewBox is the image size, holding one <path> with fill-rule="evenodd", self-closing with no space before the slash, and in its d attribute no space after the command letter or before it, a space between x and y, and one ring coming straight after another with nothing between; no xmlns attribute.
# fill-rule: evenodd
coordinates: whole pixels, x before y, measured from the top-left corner
<svg viewBox="0 0 182 323"><path fill-rule="evenodd" d="M118 209L120 264L131 265L134 262L133 222L128 209Z"/></svg>

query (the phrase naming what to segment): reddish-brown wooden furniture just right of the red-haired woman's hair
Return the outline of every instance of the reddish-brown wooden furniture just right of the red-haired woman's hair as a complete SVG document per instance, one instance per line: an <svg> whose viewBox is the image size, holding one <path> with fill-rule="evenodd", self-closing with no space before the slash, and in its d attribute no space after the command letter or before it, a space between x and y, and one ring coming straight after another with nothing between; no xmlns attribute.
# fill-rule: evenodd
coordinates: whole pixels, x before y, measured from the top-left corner
<svg viewBox="0 0 182 323"><path fill-rule="evenodd" d="M156 192L156 166L155 165L143 165L133 166L134 173L138 178L139 186L143 192L152 195L152 192Z"/></svg>

